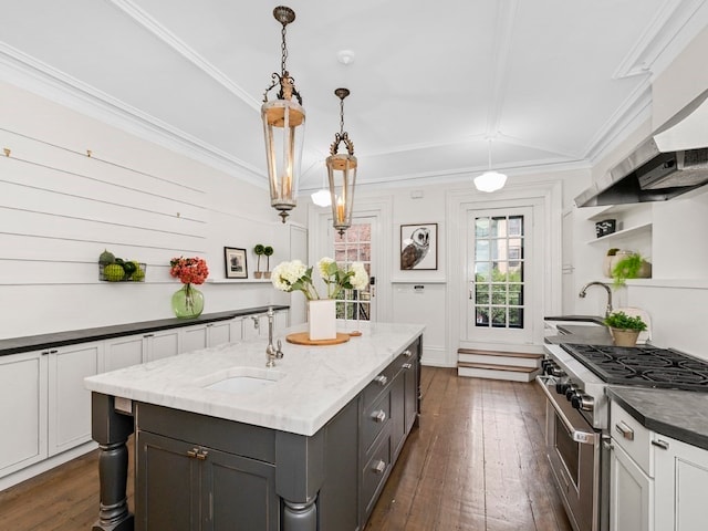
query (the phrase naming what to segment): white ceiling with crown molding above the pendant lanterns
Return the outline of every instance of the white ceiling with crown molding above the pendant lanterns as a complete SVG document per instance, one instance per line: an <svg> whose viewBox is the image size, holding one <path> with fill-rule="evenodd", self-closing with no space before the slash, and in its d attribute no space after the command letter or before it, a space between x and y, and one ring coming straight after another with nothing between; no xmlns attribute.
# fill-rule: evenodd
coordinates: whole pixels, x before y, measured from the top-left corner
<svg viewBox="0 0 708 531"><path fill-rule="evenodd" d="M323 183L337 86L351 90L345 129L360 184L475 176L489 138L492 166L512 175L589 167L649 116L653 76L708 25L706 0L285 4L296 13L288 70L308 113L304 189ZM0 0L0 77L73 94L264 185L259 110L280 72L275 6ZM337 61L341 50L354 52L351 64Z"/></svg>

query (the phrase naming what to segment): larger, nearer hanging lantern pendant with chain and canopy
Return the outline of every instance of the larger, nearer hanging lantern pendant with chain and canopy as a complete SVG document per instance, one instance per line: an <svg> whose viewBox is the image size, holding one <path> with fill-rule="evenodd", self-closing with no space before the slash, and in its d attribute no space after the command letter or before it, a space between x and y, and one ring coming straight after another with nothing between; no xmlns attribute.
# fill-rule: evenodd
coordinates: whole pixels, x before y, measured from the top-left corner
<svg viewBox="0 0 708 531"><path fill-rule="evenodd" d="M273 9L273 17L282 24L282 60L280 74L271 75L273 82L263 93L261 118L266 136L266 157L270 181L270 205L279 211L283 223L298 201L300 164L304 140L305 110L295 88L294 79L285 67L288 48L285 27L295 20L295 12L284 6ZM268 101L268 93L279 87L277 100ZM293 101L293 96L298 102Z"/></svg>

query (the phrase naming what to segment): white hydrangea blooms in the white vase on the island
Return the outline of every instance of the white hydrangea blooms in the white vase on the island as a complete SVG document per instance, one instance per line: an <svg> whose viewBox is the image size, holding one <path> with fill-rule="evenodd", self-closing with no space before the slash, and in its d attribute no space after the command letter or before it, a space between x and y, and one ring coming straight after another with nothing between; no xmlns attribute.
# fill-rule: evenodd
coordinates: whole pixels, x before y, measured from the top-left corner
<svg viewBox="0 0 708 531"><path fill-rule="evenodd" d="M312 281L312 270L300 260L281 262L273 268L271 282L281 291L302 291L309 301L336 299L342 290L361 291L368 284L368 274L363 263L353 262L348 270L344 270L333 259L324 257L317 262L317 271L327 287L327 295L321 298Z"/></svg>

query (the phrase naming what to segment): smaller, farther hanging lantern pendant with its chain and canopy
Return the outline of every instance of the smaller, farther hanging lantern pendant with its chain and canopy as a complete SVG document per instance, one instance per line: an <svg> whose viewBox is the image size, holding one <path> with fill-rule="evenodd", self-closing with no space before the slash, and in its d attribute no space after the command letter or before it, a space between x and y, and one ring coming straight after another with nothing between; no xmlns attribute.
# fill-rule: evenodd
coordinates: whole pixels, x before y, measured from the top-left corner
<svg viewBox="0 0 708 531"><path fill-rule="evenodd" d="M330 146L326 165L332 196L332 225L340 231L340 236L344 236L344 231L352 226L357 163L354 143L344 131L344 98L350 95L350 91L337 88L334 94L340 98L340 132L334 135L334 142ZM346 154L337 153L341 143L346 146Z"/></svg>

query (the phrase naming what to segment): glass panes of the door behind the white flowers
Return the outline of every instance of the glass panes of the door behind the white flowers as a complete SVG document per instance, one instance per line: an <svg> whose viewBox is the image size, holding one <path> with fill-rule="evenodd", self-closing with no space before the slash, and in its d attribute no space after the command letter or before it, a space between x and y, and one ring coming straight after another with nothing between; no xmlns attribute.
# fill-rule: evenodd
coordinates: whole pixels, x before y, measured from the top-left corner
<svg viewBox="0 0 708 531"><path fill-rule="evenodd" d="M344 269L353 262L362 262L366 274L372 278L372 222L365 218L353 220L344 235L334 235L334 260ZM342 290L337 296L337 319L371 321L371 284L363 291Z"/></svg>

